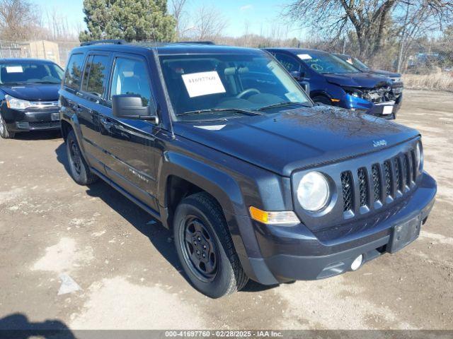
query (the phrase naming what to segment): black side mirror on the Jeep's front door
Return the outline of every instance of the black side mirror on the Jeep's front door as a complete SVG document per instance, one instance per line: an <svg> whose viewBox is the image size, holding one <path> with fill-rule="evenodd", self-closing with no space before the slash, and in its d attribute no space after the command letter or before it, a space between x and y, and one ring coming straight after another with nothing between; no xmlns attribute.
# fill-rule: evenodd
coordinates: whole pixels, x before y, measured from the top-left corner
<svg viewBox="0 0 453 339"><path fill-rule="evenodd" d="M121 119L151 120L159 124L156 107L150 102L143 106L140 95L120 94L112 97L113 117Z"/></svg>

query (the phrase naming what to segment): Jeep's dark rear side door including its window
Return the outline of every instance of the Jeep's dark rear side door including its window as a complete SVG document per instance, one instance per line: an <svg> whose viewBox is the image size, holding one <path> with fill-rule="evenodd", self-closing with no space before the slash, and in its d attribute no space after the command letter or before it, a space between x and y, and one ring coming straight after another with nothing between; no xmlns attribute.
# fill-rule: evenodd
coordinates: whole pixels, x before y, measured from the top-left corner
<svg viewBox="0 0 453 339"><path fill-rule="evenodd" d="M91 158L90 165L103 172L103 165L108 161L104 152L100 133L99 117L108 112L105 104L108 77L111 67L111 54L92 52L86 58L79 100L76 105L81 132Z"/></svg>

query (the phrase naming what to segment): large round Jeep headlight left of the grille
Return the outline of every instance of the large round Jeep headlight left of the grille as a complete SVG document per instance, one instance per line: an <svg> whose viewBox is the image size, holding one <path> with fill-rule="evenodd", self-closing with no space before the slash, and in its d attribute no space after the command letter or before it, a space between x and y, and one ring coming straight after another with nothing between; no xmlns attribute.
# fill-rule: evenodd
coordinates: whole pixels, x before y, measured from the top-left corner
<svg viewBox="0 0 453 339"><path fill-rule="evenodd" d="M309 172L302 177L297 188L297 199L304 210L316 212L326 207L330 191L326 176Z"/></svg>

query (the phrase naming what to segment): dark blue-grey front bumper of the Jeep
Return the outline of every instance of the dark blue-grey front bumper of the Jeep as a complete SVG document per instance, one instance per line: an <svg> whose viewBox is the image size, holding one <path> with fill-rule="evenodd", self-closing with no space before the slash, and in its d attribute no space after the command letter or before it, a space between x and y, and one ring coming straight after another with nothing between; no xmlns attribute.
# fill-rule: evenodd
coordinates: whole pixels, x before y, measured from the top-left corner
<svg viewBox="0 0 453 339"><path fill-rule="evenodd" d="M302 224L282 227L253 222L260 257L248 258L246 273L265 285L344 273L360 254L365 263L388 252L394 226L414 218L424 223L434 204L436 190L435 180L423 173L420 186L405 201L361 220L364 225L374 222L375 218L380 220L368 229L344 225L311 232Z"/></svg>

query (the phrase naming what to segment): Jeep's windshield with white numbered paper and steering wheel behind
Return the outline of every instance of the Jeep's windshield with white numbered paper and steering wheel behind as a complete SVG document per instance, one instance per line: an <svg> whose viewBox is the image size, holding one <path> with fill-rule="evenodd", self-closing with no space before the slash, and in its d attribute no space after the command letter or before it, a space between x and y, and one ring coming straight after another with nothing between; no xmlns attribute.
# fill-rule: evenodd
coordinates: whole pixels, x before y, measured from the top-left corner
<svg viewBox="0 0 453 339"><path fill-rule="evenodd" d="M264 53L168 55L160 61L177 120L243 117L266 114L279 105L312 105L287 71Z"/></svg>

